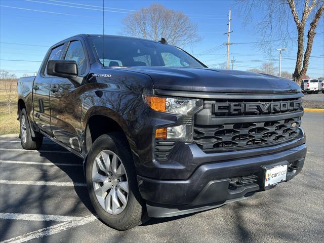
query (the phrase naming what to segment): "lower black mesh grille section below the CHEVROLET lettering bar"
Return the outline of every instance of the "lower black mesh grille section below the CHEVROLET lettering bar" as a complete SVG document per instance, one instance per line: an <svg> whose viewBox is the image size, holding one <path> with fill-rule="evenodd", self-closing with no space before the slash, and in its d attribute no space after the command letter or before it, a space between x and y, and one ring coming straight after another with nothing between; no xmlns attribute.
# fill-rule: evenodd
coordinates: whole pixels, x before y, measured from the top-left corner
<svg viewBox="0 0 324 243"><path fill-rule="evenodd" d="M292 124L296 123L295 127ZM232 123L218 126L195 126L194 142L205 152L220 148L267 145L295 138L300 117L259 123Z"/></svg>

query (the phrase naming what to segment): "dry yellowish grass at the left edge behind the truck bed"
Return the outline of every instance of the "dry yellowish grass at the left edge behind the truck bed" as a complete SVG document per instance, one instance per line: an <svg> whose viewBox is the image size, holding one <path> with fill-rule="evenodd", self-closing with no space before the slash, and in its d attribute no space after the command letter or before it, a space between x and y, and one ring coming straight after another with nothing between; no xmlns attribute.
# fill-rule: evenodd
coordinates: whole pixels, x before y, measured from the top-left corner
<svg viewBox="0 0 324 243"><path fill-rule="evenodd" d="M10 81L15 83L15 90L12 92L11 114L9 114L6 104L5 82L0 80L0 135L19 133L19 121L17 120L17 80Z"/></svg>

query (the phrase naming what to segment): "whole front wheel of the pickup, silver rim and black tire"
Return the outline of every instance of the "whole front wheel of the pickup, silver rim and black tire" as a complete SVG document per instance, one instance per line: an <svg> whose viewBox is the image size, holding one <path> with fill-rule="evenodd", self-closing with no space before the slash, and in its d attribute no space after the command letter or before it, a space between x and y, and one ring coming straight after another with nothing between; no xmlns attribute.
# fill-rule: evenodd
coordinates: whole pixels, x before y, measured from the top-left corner
<svg viewBox="0 0 324 243"><path fill-rule="evenodd" d="M147 219L123 134L109 133L96 139L87 157L86 177L92 205L107 225L127 230Z"/></svg>

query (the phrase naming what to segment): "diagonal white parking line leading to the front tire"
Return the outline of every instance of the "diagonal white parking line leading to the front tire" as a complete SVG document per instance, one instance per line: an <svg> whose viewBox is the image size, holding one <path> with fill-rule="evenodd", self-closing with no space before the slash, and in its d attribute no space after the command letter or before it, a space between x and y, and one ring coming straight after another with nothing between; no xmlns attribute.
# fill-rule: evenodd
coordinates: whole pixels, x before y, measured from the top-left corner
<svg viewBox="0 0 324 243"><path fill-rule="evenodd" d="M39 238L39 237L44 237L44 236L48 236L51 234L56 234L59 233L61 231L70 229L70 228L74 228L76 226L80 226L80 225L84 225L90 222L93 222L97 219L96 216L93 215L88 215L86 217L82 217L80 219L77 220L73 220L73 221L69 221L69 222L64 222L64 223L60 223L60 224L56 224L47 228L43 228L43 229L38 229L32 232L29 232L27 234L23 234L11 239L7 239L2 241L2 243L21 243L21 242L25 242L27 240L31 240L31 239L35 239L35 238Z"/></svg>

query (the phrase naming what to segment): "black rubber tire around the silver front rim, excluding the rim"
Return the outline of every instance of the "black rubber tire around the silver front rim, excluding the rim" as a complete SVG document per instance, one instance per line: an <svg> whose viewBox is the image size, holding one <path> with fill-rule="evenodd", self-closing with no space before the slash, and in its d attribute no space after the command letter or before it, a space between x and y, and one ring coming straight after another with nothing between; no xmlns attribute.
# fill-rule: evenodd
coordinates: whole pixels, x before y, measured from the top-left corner
<svg viewBox="0 0 324 243"><path fill-rule="evenodd" d="M94 192L92 170L96 156L100 151L110 150L122 161L129 183L128 201L125 209L117 214L109 214L99 204ZM86 161L86 179L91 203L100 219L108 226L117 230L127 230L148 220L146 207L140 196L133 157L127 139L119 132L108 133L100 136L93 143Z"/></svg>

